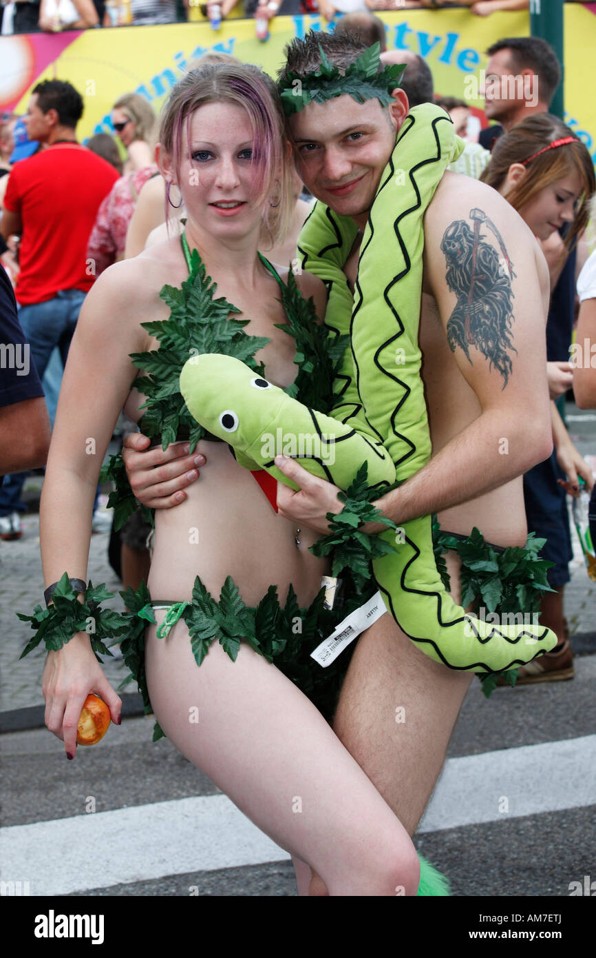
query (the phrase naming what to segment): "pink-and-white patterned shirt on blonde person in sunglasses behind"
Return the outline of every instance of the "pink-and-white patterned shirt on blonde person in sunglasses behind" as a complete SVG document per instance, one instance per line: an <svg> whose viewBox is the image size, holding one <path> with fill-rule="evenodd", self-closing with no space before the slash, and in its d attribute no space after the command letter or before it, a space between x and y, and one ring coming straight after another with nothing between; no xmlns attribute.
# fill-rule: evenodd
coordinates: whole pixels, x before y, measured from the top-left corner
<svg viewBox="0 0 596 958"><path fill-rule="evenodd" d="M101 200L87 247L87 259L96 263L96 276L124 255L128 224L135 212L137 198L156 171L155 166L143 167L143 170L121 176Z"/></svg>

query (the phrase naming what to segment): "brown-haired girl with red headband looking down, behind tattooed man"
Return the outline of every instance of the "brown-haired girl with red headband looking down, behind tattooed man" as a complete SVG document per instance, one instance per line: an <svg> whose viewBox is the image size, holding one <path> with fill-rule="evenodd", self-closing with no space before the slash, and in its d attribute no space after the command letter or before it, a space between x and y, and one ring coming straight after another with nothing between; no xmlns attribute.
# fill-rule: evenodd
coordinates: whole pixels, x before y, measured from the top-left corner
<svg viewBox="0 0 596 958"><path fill-rule="evenodd" d="M561 239L563 259L585 229L589 201L594 193L594 169L584 144L557 117L548 113L528 117L497 140L491 162L480 179L495 187L518 211L537 239ZM569 308L568 329L562 330L571 342L573 309ZM550 318L550 317L549 317ZM563 323L563 315L551 319ZM571 385L568 363L548 365L551 399ZM573 677L573 656L563 616L563 587L569 581L567 562L571 559L571 538L564 490L579 494L578 474L592 488L591 469L571 442L554 401L551 401L553 443L550 459L535 466L523 480L528 528L545 536L543 559L554 563L548 581L554 592L541 602L541 623L559 636L557 647L540 661L520 670L519 684L556 681ZM565 477L566 476L566 481Z"/></svg>

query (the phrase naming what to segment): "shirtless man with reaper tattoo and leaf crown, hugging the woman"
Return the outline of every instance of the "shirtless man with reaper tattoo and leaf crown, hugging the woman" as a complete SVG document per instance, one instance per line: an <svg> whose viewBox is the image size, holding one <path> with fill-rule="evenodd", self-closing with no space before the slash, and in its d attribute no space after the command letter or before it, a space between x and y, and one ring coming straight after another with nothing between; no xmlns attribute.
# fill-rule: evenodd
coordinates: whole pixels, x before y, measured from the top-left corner
<svg viewBox="0 0 596 958"><path fill-rule="evenodd" d="M287 69L305 78L315 73L320 65L319 43L340 68L365 49L333 34L309 34L291 45ZM322 203L351 217L361 231L407 114L408 99L397 88L390 106L382 107L374 95L357 103L342 94L324 103L309 103L290 117L300 178ZM475 346L464 351L450 345L449 323L458 300L450 283L465 283L469 262L461 263L459 275L452 263L450 269L455 272L450 272L448 282L442 247L462 217L474 227L470 212L477 209L495 225L513 272L522 277L510 281L514 321L509 342L495 337L484 352ZM468 177L444 174L424 226L420 346L432 458L377 505L398 525L438 513L441 525L461 536L477 526L499 546L522 546L526 528L520 476L552 448L543 347L547 269L529 230L512 208L495 191ZM308 231L307 222L300 245ZM493 236L487 230L481 243L498 249ZM352 287L361 238L362 233L343 263ZM387 242L395 242L392 232ZM491 304L482 301L477 289L474 298L475 309L484 309L490 319ZM542 309L536 308L537 303ZM497 353L501 358L505 354L504 366L497 361ZM506 369L506 375L499 368ZM519 408L524 409L523 421ZM499 452L503 439L507 454ZM204 459L175 460L179 446L165 453L161 449L132 451L147 442L136 434L125 444L133 490L150 507L176 505L185 497L180 490L197 477L195 465L202 465ZM337 488L290 460L282 471L298 482L300 491L279 485L279 511L298 526L304 523L325 532L326 513L342 509ZM448 554L448 566L452 595L459 601L458 560L453 553ZM389 615L383 615L358 641L334 728L409 833L415 831L429 800L471 678L471 673L451 671L432 661ZM405 722L395 719L398 707L405 710Z"/></svg>

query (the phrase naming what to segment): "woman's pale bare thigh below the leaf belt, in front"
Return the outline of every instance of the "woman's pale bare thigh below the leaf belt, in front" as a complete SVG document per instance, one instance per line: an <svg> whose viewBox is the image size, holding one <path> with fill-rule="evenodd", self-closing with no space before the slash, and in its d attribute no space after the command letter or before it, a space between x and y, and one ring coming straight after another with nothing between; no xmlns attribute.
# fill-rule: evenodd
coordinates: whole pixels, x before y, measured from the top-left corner
<svg viewBox="0 0 596 958"><path fill-rule="evenodd" d="M232 662L213 643L198 667L182 620L164 640L148 630L145 664L170 741L316 870L330 895L416 894L418 858L405 829L315 706L274 666L244 644Z"/></svg>

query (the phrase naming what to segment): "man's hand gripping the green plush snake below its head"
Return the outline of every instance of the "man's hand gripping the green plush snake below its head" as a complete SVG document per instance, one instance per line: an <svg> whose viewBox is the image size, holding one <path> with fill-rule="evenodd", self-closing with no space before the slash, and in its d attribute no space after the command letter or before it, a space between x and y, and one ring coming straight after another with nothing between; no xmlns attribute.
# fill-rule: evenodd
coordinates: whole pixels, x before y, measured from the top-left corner
<svg viewBox="0 0 596 958"><path fill-rule="evenodd" d="M341 490L325 479L319 479L298 466L294 459L276 456L276 467L299 486L296 492L283 483L277 483L277 512L298 525L308 526L326 536L329 532L327 513L341 513L343 503L338 499Z"/></svg>

